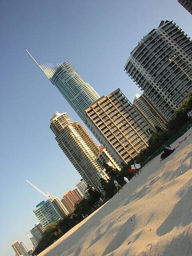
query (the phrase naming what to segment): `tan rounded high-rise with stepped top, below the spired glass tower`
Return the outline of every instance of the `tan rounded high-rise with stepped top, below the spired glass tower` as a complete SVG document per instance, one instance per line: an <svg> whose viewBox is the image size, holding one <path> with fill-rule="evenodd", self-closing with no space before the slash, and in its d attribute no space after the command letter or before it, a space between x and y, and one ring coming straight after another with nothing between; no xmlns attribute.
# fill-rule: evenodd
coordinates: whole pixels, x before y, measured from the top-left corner
<svg viewBox="0 0 192 256"><path fill-rule="evenodd" d="M94 161L99 154L99 146L83 125L73 122L67 113L55 113L50 120L50 129L59 147L85 182L101 191L97 175L101 169Z"/></svg>

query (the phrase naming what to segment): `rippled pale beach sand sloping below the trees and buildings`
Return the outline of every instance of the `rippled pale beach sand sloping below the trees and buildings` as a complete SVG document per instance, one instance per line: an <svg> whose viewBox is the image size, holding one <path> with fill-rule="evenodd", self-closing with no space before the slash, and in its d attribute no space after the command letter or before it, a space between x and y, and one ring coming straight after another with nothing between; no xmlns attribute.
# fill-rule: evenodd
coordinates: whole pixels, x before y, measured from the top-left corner
<svg viewBox="0 0 192 256"><path fill-rule="evenodd" d="M192 134L39 256L192 256Z"/></svg>

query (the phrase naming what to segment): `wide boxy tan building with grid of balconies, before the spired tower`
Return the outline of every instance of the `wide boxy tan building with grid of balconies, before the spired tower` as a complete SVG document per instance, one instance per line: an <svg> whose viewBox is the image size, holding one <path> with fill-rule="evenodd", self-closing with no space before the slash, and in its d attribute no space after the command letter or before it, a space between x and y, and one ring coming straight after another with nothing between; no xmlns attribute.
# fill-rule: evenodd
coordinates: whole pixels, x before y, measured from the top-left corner
<svg viewBox="0 0 192 256"><path fill-rule="evenodd" d="M90 105L85 123L120 167L148 146L151 127L120 89Z"/></svg>

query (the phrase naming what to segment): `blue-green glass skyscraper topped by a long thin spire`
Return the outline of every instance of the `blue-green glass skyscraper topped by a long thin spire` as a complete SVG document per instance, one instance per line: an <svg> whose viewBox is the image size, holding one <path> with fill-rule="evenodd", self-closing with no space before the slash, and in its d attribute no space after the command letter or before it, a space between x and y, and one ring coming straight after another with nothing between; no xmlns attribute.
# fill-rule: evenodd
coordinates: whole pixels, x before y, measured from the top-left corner
<svg viewBox="0 0 192 256"><path fill-rule="evenodd" d="M69 62L58 63L57 66L52 63L38 64L30 53L29 55L84 122L84 110L100 98L99 94L81 79Z"/></svg>

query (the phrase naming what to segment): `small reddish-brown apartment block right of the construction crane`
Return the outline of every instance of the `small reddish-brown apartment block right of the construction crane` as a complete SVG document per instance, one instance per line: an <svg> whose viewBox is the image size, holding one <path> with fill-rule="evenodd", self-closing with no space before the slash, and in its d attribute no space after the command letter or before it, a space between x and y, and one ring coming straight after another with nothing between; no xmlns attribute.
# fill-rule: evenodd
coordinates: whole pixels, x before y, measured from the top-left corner
<svg viewBox="0 0 192 256"><path fill-rule="evenodd" d="M78 189L73 189L64 194L61 202L66 205L70 213L74 212L76 209L76 204L78 204L83 199L83 196Z"/></svg>

